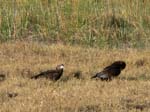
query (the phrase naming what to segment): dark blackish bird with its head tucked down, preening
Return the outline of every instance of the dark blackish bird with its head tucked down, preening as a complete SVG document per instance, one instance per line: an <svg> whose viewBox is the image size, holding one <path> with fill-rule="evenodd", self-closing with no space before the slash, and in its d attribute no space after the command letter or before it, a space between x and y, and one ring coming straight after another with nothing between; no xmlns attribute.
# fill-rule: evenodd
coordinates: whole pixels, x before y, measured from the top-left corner
<svg viewBox="0 0 150 112"><path fill-rule="evenodd" d="M115 61L105 67L101 72L96 73L91 79L98 77L101 80L112 80L112 77L117 77L125 67L126 63L124 61Z"/></svg>

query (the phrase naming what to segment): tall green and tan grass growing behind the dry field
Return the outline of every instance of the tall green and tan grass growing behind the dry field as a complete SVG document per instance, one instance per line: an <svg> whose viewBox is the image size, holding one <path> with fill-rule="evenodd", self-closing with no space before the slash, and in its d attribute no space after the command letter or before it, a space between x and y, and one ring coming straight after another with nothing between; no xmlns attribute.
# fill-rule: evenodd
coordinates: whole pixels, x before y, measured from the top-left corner
<svg viewBox="0 0 150 112"><path fill-rule="evenodd" d="M148 0L1 0L0 4L1 41L149 47Z"/></svg>

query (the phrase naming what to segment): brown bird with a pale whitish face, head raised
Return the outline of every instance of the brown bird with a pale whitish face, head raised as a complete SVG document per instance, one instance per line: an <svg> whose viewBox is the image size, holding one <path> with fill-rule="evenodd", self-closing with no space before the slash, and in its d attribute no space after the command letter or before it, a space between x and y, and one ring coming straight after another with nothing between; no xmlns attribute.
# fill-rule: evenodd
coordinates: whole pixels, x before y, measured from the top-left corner
<svg viewBox="0 0 150 112"><path fill-rule="evenodd" d="M64 64L60 64L56 66L56 69L52 69L52 70L47 70L44 72L39 73L38 75L32 76L31 79L38 79L38 78L47 78L53 81L57 81L60 79L60 77L63 74L63 70L64 70Z"/></svg>

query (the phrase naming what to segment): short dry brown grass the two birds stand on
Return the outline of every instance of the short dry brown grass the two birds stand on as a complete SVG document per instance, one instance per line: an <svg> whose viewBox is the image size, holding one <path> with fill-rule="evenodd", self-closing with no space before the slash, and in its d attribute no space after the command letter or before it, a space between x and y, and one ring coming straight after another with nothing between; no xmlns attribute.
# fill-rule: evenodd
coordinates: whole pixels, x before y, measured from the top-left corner
<svg viewBox="0 0 150 112"><path fill-rule="evenodd" d="M127 68L111 82L90 77L115 60ZM40 71L64 63L58 82L31 80ZM82 71L84 79L73 78ZM37 42L0 45L2 112L127 112L150 111L150 51L137 49L82 48ZM68 80L64 80L68 78Z"/></svg>

